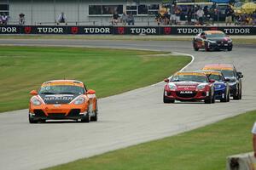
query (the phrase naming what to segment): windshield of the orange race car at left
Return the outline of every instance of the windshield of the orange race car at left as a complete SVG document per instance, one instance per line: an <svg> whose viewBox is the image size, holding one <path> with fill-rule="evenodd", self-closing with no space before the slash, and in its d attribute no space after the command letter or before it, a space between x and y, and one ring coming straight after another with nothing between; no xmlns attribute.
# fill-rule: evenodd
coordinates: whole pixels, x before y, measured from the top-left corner
<svg viewBox="0 0 256 170"><path fill-rule="evenodd" d="M79 86L44 86L39 90L39 94L84 94L84 88Z"/></svg>

